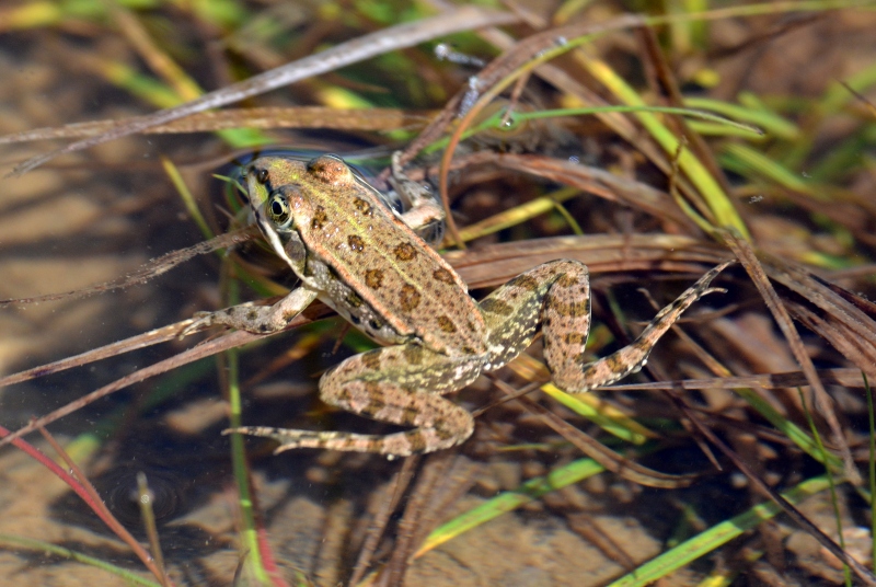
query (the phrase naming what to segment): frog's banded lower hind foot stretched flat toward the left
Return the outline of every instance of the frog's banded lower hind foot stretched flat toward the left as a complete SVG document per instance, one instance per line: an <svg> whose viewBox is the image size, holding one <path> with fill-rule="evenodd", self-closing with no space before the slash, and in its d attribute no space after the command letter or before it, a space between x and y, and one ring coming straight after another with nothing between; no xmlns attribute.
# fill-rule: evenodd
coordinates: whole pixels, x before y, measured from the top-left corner
<svg viewBox="0 0 876 587"><path fill-rule="evenodd" d="M435 428L417 428L389 435L291 430L268 426L241 426L222 430L223 435L235 433L273 438L280 444L274 449L274 454L293 448L319 448L348 452L376 452L388 457L408 457L415 452L440 450L463 442L471 436L469 433L448 442L447 438L440 438L440 434Z"/></svg>

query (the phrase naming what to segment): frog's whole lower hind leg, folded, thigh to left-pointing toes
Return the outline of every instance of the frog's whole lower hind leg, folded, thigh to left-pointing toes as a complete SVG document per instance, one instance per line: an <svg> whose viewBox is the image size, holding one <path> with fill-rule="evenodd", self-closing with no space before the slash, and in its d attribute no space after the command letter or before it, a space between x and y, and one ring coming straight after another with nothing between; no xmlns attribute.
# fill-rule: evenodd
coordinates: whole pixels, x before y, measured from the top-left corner
<svg viewBox="0 0 876 587"><path fill-rule="evenodd" d="M474 381L481 358L451 359L417 344L388 346L350 357L320 380L325 403L412 430L365 435L247 426L223 434L274 438L280 442L275 452L303 447L405 457L449 448L472 435L474 419L441 395Z"/></svg>

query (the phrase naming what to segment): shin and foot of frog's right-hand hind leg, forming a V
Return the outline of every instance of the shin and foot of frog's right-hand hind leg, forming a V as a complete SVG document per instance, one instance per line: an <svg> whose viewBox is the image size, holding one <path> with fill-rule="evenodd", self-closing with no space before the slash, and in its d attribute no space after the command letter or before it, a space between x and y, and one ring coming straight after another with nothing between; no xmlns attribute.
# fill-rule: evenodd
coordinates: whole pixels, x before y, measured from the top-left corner
<svg viewBox="0 0 876 587"><path fill-rule="evenodd" d="M574 311L576 308L574 291L565 287L563 280L557 280L551 288L550 299L545 300L543 314L544 355L554 382L569 393L584 393L637 372L647 361L657 341L666 334L684 310L707 294L724 291L708 286L730 263L733 262L723 263L703 275L676 301L660 310L633 343L595 362L584 365L583 368L586 337L578 336L578 331L575 329L567 330L565 326L560 326L577 320Z"/></svg>

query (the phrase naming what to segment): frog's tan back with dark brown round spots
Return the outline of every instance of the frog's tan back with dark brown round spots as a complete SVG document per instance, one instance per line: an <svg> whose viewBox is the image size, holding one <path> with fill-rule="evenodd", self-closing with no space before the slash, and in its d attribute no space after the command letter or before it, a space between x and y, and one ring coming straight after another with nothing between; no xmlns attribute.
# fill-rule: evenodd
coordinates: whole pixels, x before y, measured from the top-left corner
<svg viewBox="0 0 876 587"><path fill-rule="evenodd" d="M437 352L484 352L483 319L465 284L343 161L315 159L292 183L295 228L308 254L328 267L319 287L332 307L355 315L365 306ZM354 295L336 299L345 290Z"/></svg>

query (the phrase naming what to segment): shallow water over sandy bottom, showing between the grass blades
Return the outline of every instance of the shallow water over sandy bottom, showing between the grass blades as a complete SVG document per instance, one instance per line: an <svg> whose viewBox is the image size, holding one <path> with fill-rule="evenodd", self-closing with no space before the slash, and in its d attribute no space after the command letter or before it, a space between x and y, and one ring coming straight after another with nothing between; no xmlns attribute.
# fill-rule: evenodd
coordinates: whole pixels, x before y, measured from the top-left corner
<svg viewBox="0 0 876 587"><path fill-rule="evenodd" d="M738 31L724 30L724 33L737 34ZM0 36L0 79L4 80L0 84L0 134L152 110L99 81L93 73L83 72L79 51L85 51L85 46L103 55L129 51L118 38L112 35L103 38L89 27ZM764 69L753 76L761 91L770 88L766 84L769 67ZM811 76L806 77L806 83L815 83ZM826 83L823 79L821 83ZM309 94L296 97L306 101ZM277 138L278 142L293 142L296 149L335 152L346 152L368 142L361 137L337 134L308 134L301 138L287 133L278 134ZM0 146L0 171L5 172L15 161L43 152L51 145ZM601 150L601 146L593 149L600 153ZM161 153L187 163L182 170L196 197L201 198L201 209L223 226L222 185L211 180L210 173L229 173L228 161L245 159L250 153L229 154L218 146L217 139L207 135L125 138L59 159L23 177L5 179L2 183L0 299L67 291L106 281L151 258L200 242L204 237L188 218L161 169ZM632 165L630 161L626 164ZM485 175L486 181L495 179L489 173ZM522 182L512 180L509 183L516 188ZM528 188L531 186L522 185L520 193ZM460 206L460 216L464 220L477 218L482 208L492 210L511 200L517 203L514 199L517 196L514 189L497 193L484 189ZM749 204L760 204L761 199L751 198ZM626 234L627 222L633 223L627 209L610 207L595 198L586 203L592 206L570 205L569 209L573 215L577 214L580 223L591 222L585 225L588 230ZM551 230L557 222L552 218L543 222L538 220L533 226L553 234ZM788 254L792 254L798 249L796 241L787 244L787 239L797 234L789 225L780 225L776 218L752 225L754 230L761 231L762 244L770 245L770 239L775 239L773 251L788 246ZM776 226L784 228L777 231ZM531 234L526 232L526 235ZM516 234L508 231L497 239L506 237L510 239ZM785 242L780 243L783 239ZM256 245L242 249L243 258L253 265L262 264L268 256L260 253ZM264 272L273 275L274 267L266 266ZM125 290L78 300L0 308L0 376L172 324L197 311L215 309L220 306L221 281L219 260L207 255ZM606 283L608 280L603 286ZM289 286L291 281L284 281L284 285ZM660 284L645 285L658 295L666 294ZM625 309L642 307L636 315L653 315L653 310L635 294L635 284L626 284L619 291L618 299ZM243 299L258 297L243 288ZM665 297L671 298L670 295ZM710 300L710 303L719 306L723 302ZM727 323L724 326L729 329ZM333 319L242 350L240 379L246 423L382 430L356 416L330 412L316 400L319 375L354 352L346 346L337 352L333 348L343 329L341 321ZM744 329L759 342L768 343L759 347L764 350L756 357L763 361L758 364L763 370L796 368L771 322L749 321ZM597 338L611 336L607 329L596 335ZM201 338L171 341L0 389L0 425L14 428L25 424L33 416L189 348ZM356 350L366 348L366 343L355 336L348 337L348 343ZM676 344L667 345L670 357ZM290 350L301 350L301 356L284 358ZM837 360L827 352L821 358L830 366L833 365L831 360ZM285 362L277 367L275 361ZM672 360L668 362L673 364ZM246 571L238 575L241 562L251 554L241 545L240 499L232 475L229 438L221 436L228 413L221 381L227 372L226 364L217 365L214 358L204 359L117 392L49 426L84 464L88 476L110 509L141 543L146 543L146 532L135 487L137 473L146 473L153 494L164 561L177 585L230 585L235 577L238 584L255 584ZM511 380L509 375L504 373L503 378ZM461 393L459 401L469 407L480 407L495 401L496 395L492 382L482 379ZM687 444L682 444L676 439L680 433L673 425L679 416L667 407L665 399L630 395L619 401L625 401L627 408L634 402L647 405L643 413L650 415L655 427L665 431L669 439L658 456L644 459L645 464L660 471L706 471L710 475L694 487L679 492L643 490L613 475L590 477L428 552L412 563L406 583L602 585L623 574L624 567L661 552L665 542L677 532L683 536L693 532L688 527L685 509L690 504L694 504L698 514L708 523L747 507L751 496L737 486L739 479L712 474L712 465L699 448L693 448L693 442L687 439ZM555 410L572 419L568 412ZM740 408L736 406L735 410ZM580 419L576 424L583 428L588 426ZM27 440L51 454L37 434L31 434ZM676 441L679 446L673 445ZM272 457L273 446L268 442L251 439L246 446L256 510L270 542L278 574L289 583L337 585L347 582L362 544L370 539L370 522L392 499L391 480L403 470L403 460L309 450ZM509 447L515 450L507 450ZM775 454L769 446L763 450L765 454ZM495 407L481 417L476 438L462 448L461 454L452 467L441 469L453 473L439 480L446 482L443 485L436 483L428 492L424 490L429 499L423 507L425 521L422 526L413 525L414 530L411 530L404 520L400 521L404 508L396 507L390 517L388 536L401 537L399 541L407 534L422 538L417 534L422 528L430 529L439 521L470 510L502 492L514 492L521 483L580 458L579 452L562 444L541 421L514 403ZM766 461L769 459L764 459ZM809 461L780 461L770 463L771 473L775 475L773 481L782 475L798 479L818 473ZM439 456L419 461L414 465L414 483L440 467ZM419 494L408 491L406 497L411 502L414 500L412 495ZM811 504L808 507L810 511L820 509ZM694 527L701 522L699 518L690 521ZM785 527L782 528L784 532ZM3 577L14 577L14 584L21 586L122 583L106 571L44 554L37 548L10 546L9 537L61 545L112 562L139 576L149 576L129 549L108 532L66 485L23 452L2 448L0 584ZM397 542L379 543L374 559L381 563L391 560L395 544ZM619 551L629 560L616 556ZM817 546L811 544L804 544L795 552L819 555ZM693 566L677 575L675 580L677 584L700 580L707 567ZM818 574L817 571L812 573ZM825 574L831 576L829 572Z"/></svg>

